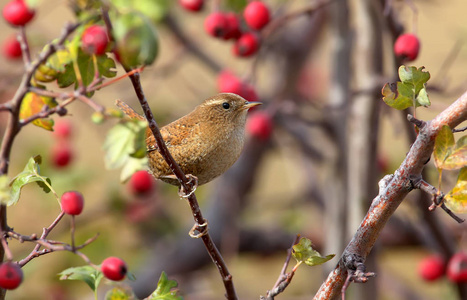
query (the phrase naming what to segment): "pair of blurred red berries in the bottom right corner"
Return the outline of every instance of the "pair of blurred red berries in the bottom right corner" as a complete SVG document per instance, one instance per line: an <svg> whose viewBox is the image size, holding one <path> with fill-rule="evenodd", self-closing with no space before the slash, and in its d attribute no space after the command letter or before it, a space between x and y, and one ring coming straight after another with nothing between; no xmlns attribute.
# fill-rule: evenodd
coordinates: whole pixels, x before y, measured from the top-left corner
<svg viewBox="0 0 467 300"><path fill-rule="evenodd" d="M467 254L459 252L454 254L449 261L439 255L425 257L418 265L418 273L426 281L435 281L446 274L454 283L467 282Z"/></svg>

